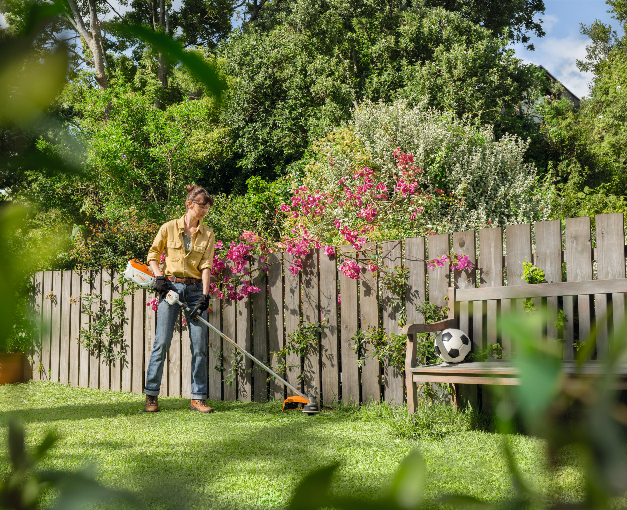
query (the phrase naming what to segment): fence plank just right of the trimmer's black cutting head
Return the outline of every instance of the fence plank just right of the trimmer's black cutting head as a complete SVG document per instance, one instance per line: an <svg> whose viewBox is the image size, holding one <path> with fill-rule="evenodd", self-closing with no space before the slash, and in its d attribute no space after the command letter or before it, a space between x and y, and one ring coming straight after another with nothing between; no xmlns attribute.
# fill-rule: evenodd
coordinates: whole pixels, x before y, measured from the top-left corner
<svg viewBox="0 0 627 510"><path fill-rule="evenodd" d="M320 318L328 319L320 334L322 363L322 401L325 405L339 399L340 366L337 336L337 264L335 255L320 255Z"/></svg>

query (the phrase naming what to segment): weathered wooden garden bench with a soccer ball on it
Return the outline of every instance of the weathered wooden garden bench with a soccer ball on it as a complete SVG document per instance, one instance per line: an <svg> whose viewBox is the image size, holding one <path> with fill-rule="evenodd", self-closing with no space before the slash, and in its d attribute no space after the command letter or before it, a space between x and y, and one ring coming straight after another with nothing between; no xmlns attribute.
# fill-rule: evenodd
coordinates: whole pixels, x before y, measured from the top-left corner
<svg viewBox="0 0 627 510"><path fill-rule="evenodd" d="M417 383L454 383L473 385L517 385L519 373L512 356L515 344L512 339L497 331L497 318L514 307L522 308L525 299L532 299L537 309L544 303L547 321L534 333L546 336L549 341L557 340L559 330L555 326L559 310L566 320L562 330L564 345L564 373L579 373L574 363L573 343L576 339L575 318L578 319L579 339L590 336L596 328L596 359L609 356L608 337L611 329L624 319L624 295L627 293L627 278L612 280L587 280L581 282L556 282L551 284L513 285L510 287L482 287L480 289L448 289L448 319L432 324L409 324L403 328L407 335L405 376L409 412L418 405ZM596 312L596 315L595 315ZM537 324L537 322L532 322ZM485 327L484 327L485 326ZM418 335L424 332L442 331L456 327L464 331L473 343L473 353L485 348L485 344L500 344L508 354L507 359L493 361L462 361L461 363L437 363L416 366ZM531 326L530 326L531 327ZM536 326L537 327L537 326ZM486 335L483 335L483 331ZM432 341L426 339L424 341ZM603 364L589 361L582 375L599 375ZM627 376L627 364L619 367L619 374ZM622 378L622 377L621 377Z"/></svg>

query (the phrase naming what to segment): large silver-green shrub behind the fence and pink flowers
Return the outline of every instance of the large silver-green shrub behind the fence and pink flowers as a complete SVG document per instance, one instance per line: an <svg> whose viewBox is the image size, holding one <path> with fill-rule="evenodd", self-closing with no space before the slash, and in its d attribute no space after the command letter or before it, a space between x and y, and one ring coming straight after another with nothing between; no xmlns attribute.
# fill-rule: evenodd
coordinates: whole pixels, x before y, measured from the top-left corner
<svg viewBox="0 0 627 510"><path fill-rule="evenodd" d="M426 230L468 230L549 216L551 188L539 181L534 165L524 161L527 143L515 135L495 141L489 125L430 109L426 100L414 107L401 101L362 104L349 125L336 132L342 130L352 132L358 143L340 144L337 137L319 142L318 164L309 164L303 179L312 191L337 193L340 179L346 180L345 186L354 186L350 178L354 169L369 164L376 169L376 181L393 193L399 175L396 147L413 154L414 164L423 170L418 178L423 196L386 211L381 231L420 235ZM321 164L325 161L333 164ZM334 204L320 220L327 226L335 218L358 223L358 218L350 218L356 212ZM413 221L411 213L416 214Z"/></svg>

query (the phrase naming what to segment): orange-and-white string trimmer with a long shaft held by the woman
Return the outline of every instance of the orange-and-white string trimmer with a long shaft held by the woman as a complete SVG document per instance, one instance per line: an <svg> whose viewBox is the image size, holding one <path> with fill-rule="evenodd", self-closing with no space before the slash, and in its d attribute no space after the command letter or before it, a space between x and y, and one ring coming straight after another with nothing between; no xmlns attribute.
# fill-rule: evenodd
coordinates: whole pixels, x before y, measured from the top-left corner
<svg viewBox="0 0 627 510"><path fill-rule="evenodd" d="M124 276L124 278L129 280L130 282L133 282L134 284L139 285L140 287L142 287L142 289L154 288L154 284L157 281L154 275L152 274L152 271L150 270L150 268L147 265L139 262L137 258L129 260L129 263L126 266L124 273L122 273L122 276ZM171 304L171 305L177 303L182 308L184 308L188 313L191 313L191 310L187 306L187 303L182 303L181 300L179 300L179 295L174 291L174 289L170 289L168 291L165 300L168 304ZM210 329L218 333L219 336L223 337L226 341L231 343L236 349L239 349L243 354L245 354L245 356L247 356L252 361L254 361L258 366L263 368L266 372L268 372L278 381L281 381L285 386L287 386L288 388L290 388L290 390L296 393L296 396L288 396L288 398L286 398L283 401L283 410L285 410L286 407L289 409L289 408L292 408L292 406L297 406L298 403L302 403L303 413L307 415L315 415L316 413L319 412L317 403L312 401L311 398L308 398L307 396L300 393L300 391L294 388L294 386L290 385L290 383L288 383L280 375L275 373L272 369L270 369L270 367L261 363L259 359L255 358L255 356L253 356L248 351L246 351L246 349L236 344L233 340L231 340L228 336L226 336L223 332L221 332L217 327L213 326L212 324L209 324L209 322L205 321L203 317L198 316L196 317L196 319L198 319L198 321L203 322L203 324L206 324L207 327L209 327Z"/></svg>

